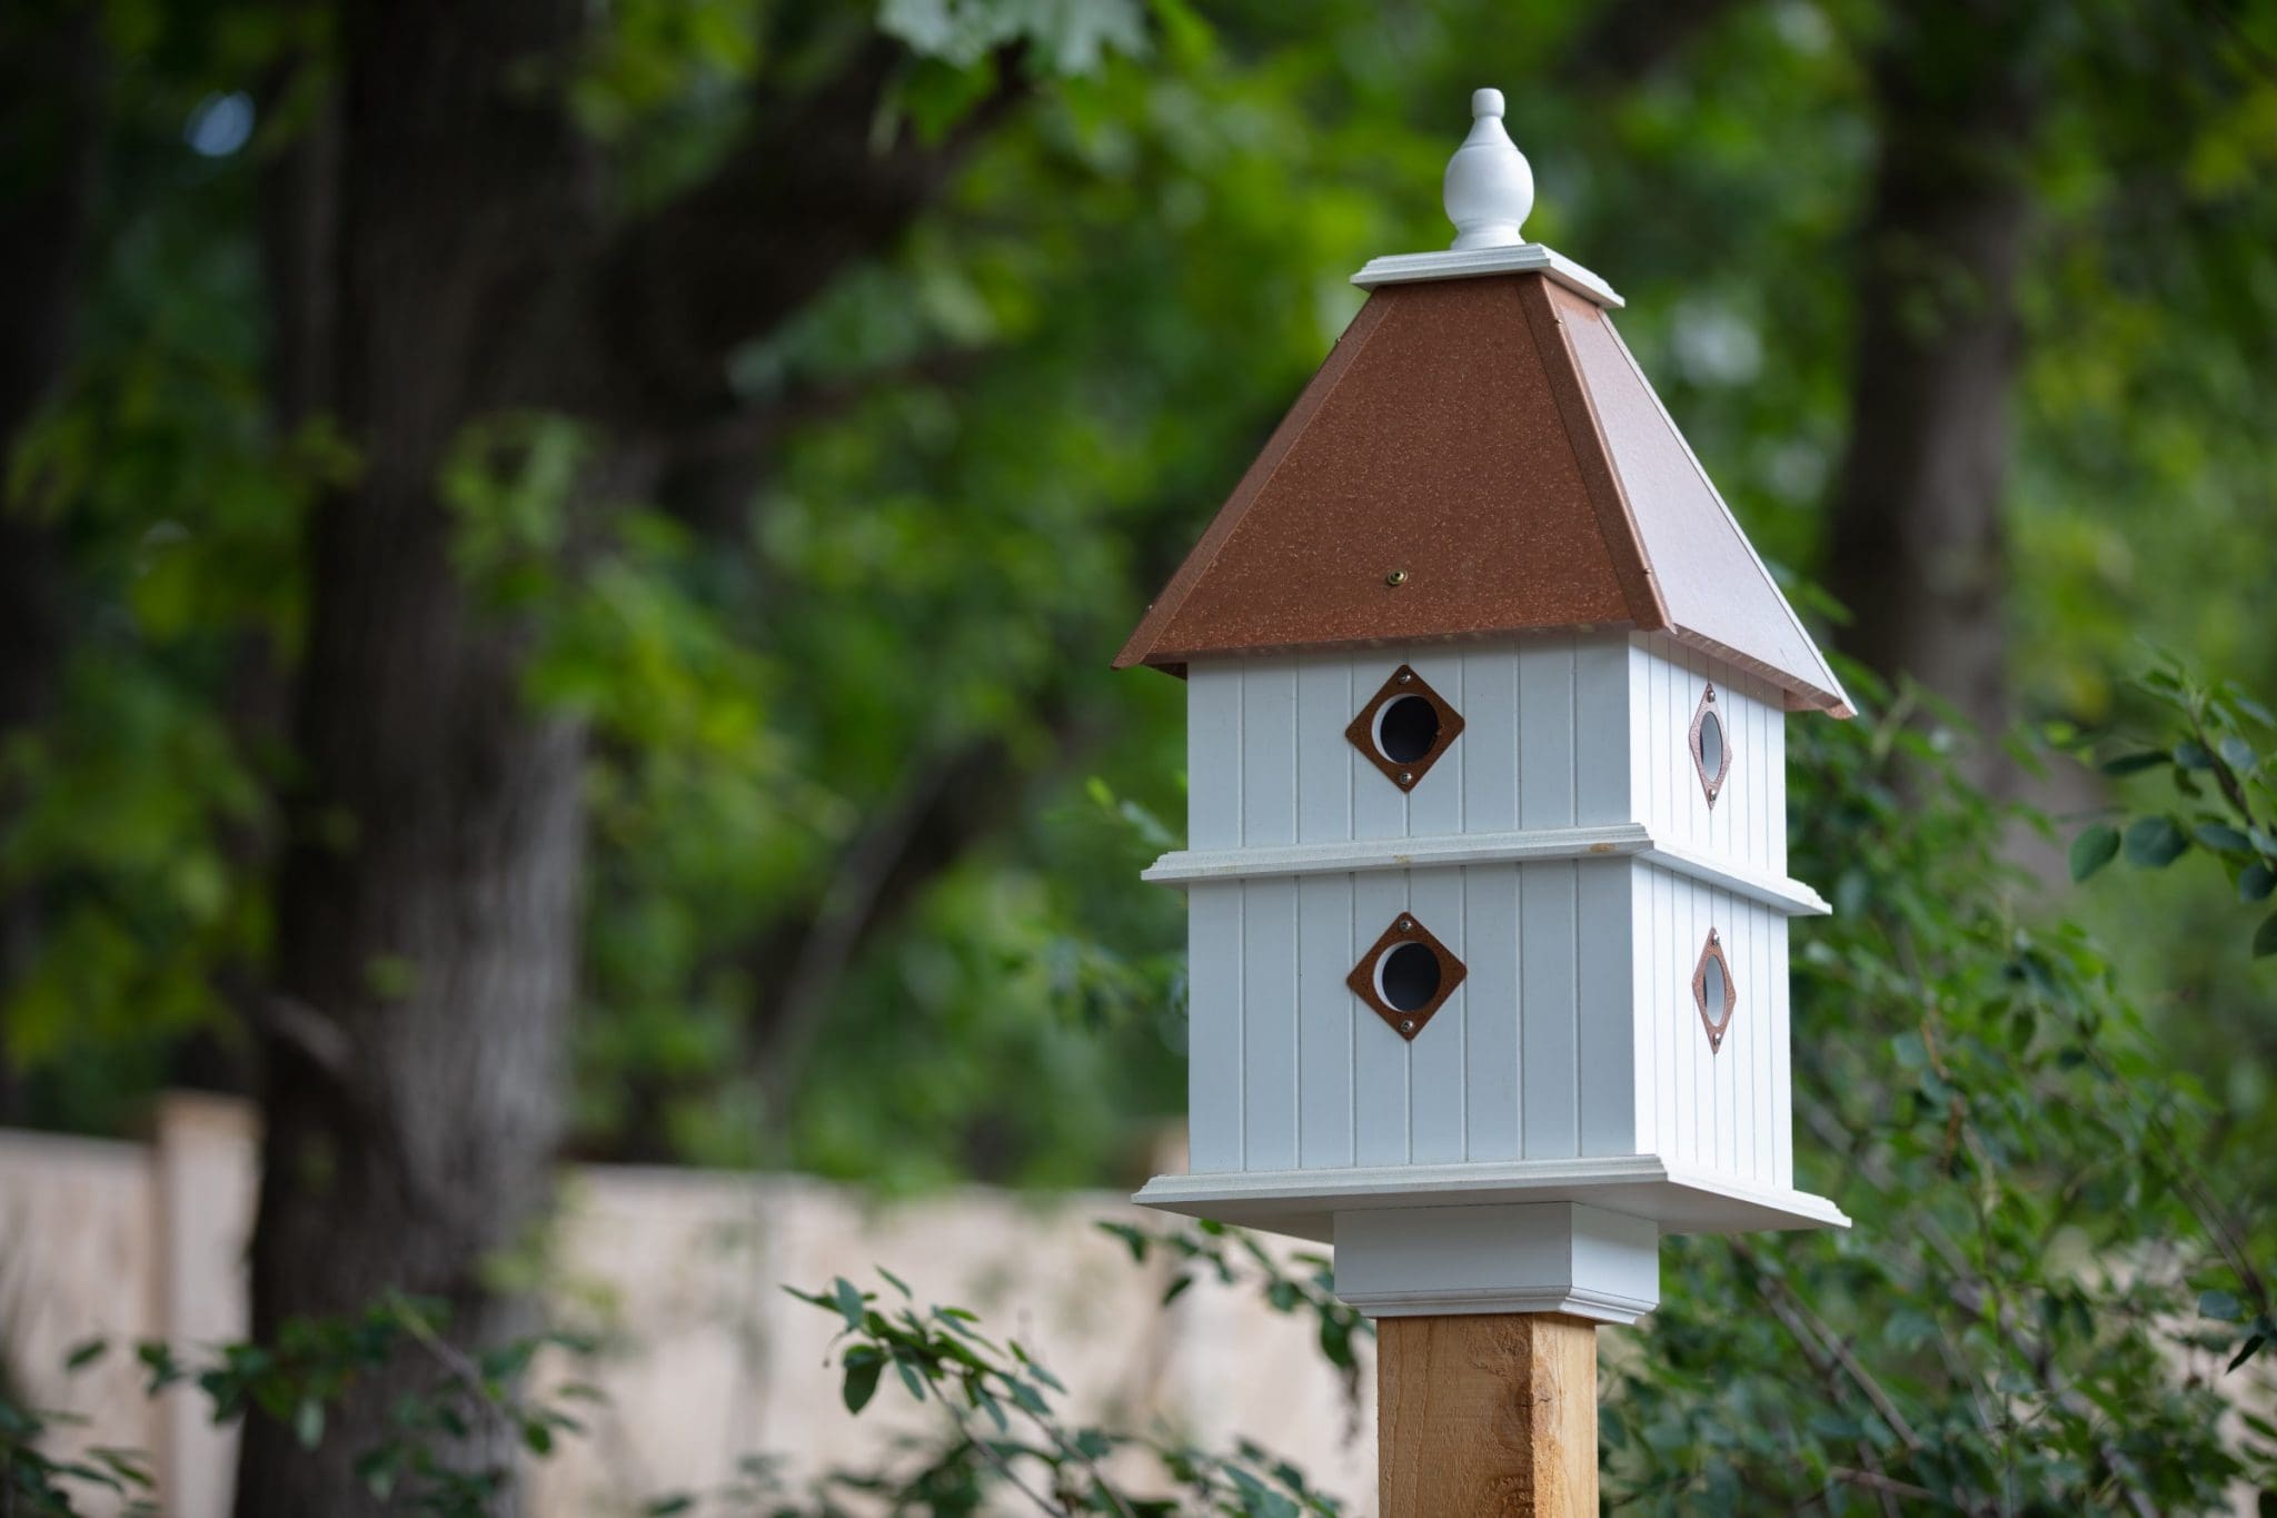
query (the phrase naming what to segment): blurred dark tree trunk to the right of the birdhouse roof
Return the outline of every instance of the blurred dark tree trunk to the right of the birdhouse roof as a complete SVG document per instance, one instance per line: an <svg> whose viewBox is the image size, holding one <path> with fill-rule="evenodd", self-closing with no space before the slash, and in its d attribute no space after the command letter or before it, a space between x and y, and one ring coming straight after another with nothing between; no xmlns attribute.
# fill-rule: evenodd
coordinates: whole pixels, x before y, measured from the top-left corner
<svg viewBox="0 0 2277 1518"><path fill-rule="evenodd" d="M2022 360L2038 7L1890 7L1826 585L1842 644L1988 735L2008 721L2001 492Z"/></svg>

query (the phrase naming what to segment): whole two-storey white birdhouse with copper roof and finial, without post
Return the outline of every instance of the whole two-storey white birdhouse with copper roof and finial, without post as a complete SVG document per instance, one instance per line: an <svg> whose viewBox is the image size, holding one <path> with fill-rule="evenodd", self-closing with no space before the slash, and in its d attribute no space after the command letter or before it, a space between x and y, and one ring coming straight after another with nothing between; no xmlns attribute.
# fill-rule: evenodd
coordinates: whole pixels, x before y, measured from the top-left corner
<svg viewBox="0 0 2277 1518"><path fill-rule="evenodd" d="M1186 680L1189 1174L1371 1315L1660 1300L1794 1190L1785 717L1849 706L1478 91L1116 660Z"/></svg>

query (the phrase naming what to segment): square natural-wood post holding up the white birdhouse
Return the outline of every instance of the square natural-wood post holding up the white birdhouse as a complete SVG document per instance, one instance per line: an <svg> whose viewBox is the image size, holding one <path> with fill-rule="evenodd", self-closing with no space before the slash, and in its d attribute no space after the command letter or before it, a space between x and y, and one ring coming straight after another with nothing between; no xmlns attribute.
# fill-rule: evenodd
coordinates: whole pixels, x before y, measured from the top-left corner
<svg viewBox="0 0 2277 1518"><path fill-rule="evenodd" d="M1382 1518L1596 1513L1596 1325L1378 1318Z"/></svg>

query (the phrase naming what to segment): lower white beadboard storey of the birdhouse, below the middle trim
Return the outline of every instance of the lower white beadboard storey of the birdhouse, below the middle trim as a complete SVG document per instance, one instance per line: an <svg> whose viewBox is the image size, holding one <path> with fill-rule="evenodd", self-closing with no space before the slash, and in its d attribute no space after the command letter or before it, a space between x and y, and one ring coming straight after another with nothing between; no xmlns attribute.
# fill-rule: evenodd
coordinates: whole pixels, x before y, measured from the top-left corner
<svg viewBox="0 0 2277 1518"><path fill-rule="evenodd" d="M1787 915L1808 908L1760 883L1576 849L1184 885L1198 1179L1664 1156L1792 1186ZM1412 1033L1353 983L1403 922L1460 963ZM1710 933L1721 1020L1696 985Z"/></svg>

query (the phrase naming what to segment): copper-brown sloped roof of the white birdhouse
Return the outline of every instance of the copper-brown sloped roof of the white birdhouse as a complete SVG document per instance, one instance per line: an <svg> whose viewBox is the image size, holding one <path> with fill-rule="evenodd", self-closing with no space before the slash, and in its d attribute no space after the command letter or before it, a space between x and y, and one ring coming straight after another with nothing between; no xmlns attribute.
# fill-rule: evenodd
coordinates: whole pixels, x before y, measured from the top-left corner
<svg viewBox="0 0 2277 1518"><path fill-rule="evenodd" d="M1368 296L1116 667L1578 626L1849 715L1605 312L1505 273Z"/></svg>

